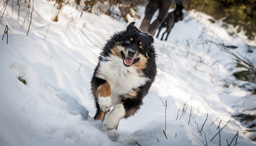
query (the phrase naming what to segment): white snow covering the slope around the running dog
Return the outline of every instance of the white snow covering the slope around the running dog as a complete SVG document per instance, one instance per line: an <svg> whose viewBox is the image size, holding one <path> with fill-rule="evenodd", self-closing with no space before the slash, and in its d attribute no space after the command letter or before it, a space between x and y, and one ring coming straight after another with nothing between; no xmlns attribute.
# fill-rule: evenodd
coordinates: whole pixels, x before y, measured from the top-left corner
<svg viewBox="0 0 256 146"><path fill-rule="evenodd" d="M102 121L93 119L90 80L106 40L127 23L87 12L80 17L81 11L72 6L64 6L59 21L53 22L53 2L36 0L26 36L28 18L20 28L27 5L20 2L19 22L18 7L14 5L11 13L11 3L0 20L1 32L6 24L10 28L8 44L6 36L0 41L0 145L203 145L193 134L208 145L219 145L219 135L210 142L218 132L218 121L222 120L222 128L232 114L255 106L255 100L239 100L245 91L219 85L215 77L232 78L232 60L214 44L203 43L237 45L236 51L255 64L255 52L247 53L244 35L230 36L220 27L221 21L211 23L209 16L190 11L175 24L167 42L155 38L157 76L141 109L121 119L118 131L106 131ZM136 21L139 27L141 19ZM162 132L165 101L168 139ZM201 128L206 117L204 137L197 124ZM221 144L230 142L238 131L237 145L256 145L250 140L255 134L243 134L244 130L231 118L221 131Z"/></svg>

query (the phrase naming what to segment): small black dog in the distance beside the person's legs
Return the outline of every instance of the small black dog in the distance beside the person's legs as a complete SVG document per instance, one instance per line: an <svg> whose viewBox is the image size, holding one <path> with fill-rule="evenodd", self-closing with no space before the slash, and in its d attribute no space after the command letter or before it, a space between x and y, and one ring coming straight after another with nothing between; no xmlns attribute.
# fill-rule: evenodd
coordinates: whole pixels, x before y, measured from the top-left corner
<svg viewBox="0 0 256 146"><path fill-rule="evenodd" d="M169 12L168 16L164 19L161 26L159 27L156 37L158 38L159 33L162 30L162 28L167 28L166 31L162 34L162 37L161 37L161 40L163 40L163 35L165 33L167 33L166 38L165 38L165 41L166 41L167 37L170 33L170 30L172 30L172 28L174 27L174 23L178 22L179 20L182 20L182 19L183 19L182 11L174 10L173 12Z"/></svg>

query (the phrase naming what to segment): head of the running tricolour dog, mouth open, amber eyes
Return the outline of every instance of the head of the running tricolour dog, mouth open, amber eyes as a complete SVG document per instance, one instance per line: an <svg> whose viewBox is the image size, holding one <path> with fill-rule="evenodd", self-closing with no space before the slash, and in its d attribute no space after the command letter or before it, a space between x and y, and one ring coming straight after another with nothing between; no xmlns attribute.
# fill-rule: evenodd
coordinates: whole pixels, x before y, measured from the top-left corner
<svg viewBox="0 0 256 146"><path fill-rule="evenodd" d="M136 63L138 65L150 57L155 57L154 38L141 32L134 24L135 22L131 22L125 31L119 33L118 42L112 48L112 53L122 58L126 67Z"/></svg>

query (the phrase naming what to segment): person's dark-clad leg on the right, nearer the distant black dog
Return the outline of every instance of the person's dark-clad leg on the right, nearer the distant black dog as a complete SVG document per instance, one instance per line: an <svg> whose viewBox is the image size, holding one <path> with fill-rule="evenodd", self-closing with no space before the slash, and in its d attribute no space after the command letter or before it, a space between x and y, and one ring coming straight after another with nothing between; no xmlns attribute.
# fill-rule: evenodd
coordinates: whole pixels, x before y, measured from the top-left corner
<svg viewBox="0 0 256 146"><path fill-rule="evenodd" d="M157 19L151 23L147 33L155 34L156 30L161 26L162 21L167 17L171 3L172 2L170 0L160 0L159 14Z"/></svg>

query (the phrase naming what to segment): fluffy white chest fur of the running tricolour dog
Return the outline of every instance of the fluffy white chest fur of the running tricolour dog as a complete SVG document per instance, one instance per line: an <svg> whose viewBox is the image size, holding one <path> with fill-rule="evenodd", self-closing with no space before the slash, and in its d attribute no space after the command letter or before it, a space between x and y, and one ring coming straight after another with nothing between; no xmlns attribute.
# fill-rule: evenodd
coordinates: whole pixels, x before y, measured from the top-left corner
<svg viewBox="0 0 256 146"><path fill-rule="evenodd" d="M110 84L112 96L126 94L148 80L139 74L134 66L125 67L121 58L111 56L108 60L100 62L96 76Z"/></svg>

